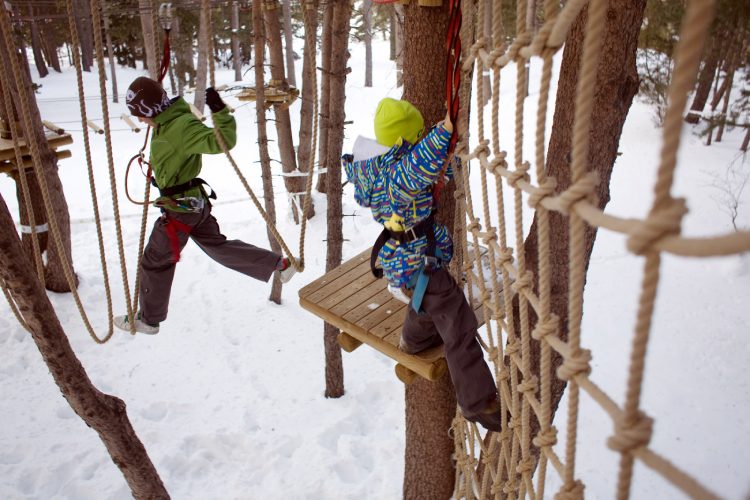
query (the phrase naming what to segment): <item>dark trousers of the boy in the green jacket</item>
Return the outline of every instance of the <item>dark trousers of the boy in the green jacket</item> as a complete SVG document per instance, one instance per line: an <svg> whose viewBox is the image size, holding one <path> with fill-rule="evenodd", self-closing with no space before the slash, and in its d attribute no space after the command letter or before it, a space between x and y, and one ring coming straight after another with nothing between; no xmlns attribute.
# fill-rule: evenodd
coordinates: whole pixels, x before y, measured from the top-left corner
<svg viewBox="0 0 750 500"><path fill-rule="evenodd" d="M227 240L211 215L208 203L200 213L168 212L154 224L141 260L141 319L146 323L158 324L164 321L169 308L176 263L167 231L168 219L176 219L191 228L189 235L177 231L180 250L190 237L219 264L257 280L268 281L281 258L278 254L249 243Z"/></svg>

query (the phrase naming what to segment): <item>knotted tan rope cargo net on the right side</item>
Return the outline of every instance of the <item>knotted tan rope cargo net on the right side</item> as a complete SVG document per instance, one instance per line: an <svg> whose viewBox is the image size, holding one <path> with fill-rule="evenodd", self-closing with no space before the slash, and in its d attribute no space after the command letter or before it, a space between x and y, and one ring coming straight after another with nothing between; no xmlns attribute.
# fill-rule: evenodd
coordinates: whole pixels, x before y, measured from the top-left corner
<svg viewBox="0 0 750 500"><path fill-rule="evenodd" d="M676 152L682 128L683 110L695 81L703 44L708 36L713 17L713 1L688 2L679 45L676 49L675 69L669 90L670 108L663 128L663 145L654 201L648 215L641 219L625 219L605 214L596 205L593 193L597 177L587 166L588 131L592 125L591 110L595 91L596 70L600 53L603 26L607 11L606 0L568 0L560 10L556 0L544 2L546 19L534 36L526 31L527 2L518 1L517 37L510 45L502 42L502 24L498 4L493 9L494 46L488 46L481 36L486 16L486 2L478 2L476 38L467 32L465 23L462 38L476 39L472 46L465 44L463 68L465 81L475 75L477 94L476 127L463 134L456 154L462 160L461 175L456 175L456 256L452 272L463 275L472 300L483 304L485 328L480 332L480 343L494 366L498 394L502 406L503 430L482 435L479 428L458 413L454 420L453 437L456 444L455 498L544 498L561 500L582 499L584 484L576 478L576 437L578 432L579 396L587 393L613 422L614 434L607 446L620 454L616 496L628 498L635 461L649 467L692 498L718 498L708 487L700 484L689 473L681 470L668 458L649 448L653 419L640 408L643 371L647 341L654 309L656 287L659 282L660 259L664 252L674 255L709 257L733 255L750 250L750 232L738 231L708 238L681 236L681 219L687 212L684 200L670 196L676 167ZM471 18L473 2L464 1L465 18ZM552 80L553 56L565 42L574 19L581 9L588 8L588 22L583 43L583 55L575 102L575 121L571 155L572 184L566 190L556 190L555 179L545 175L545 123L547 101ZM524 98L527 61L539 58L540 91L534 123L524 126ZM516 95L515 138L513 166L506 162L507 152L499 141L498 92L503 69L515 64ZM491 72L492 99L484 103L483 75ZM464 88L469 85L464 85ZM507 98L507 100L511 100ZM467 99L462 97L462 102ZM466 104L465 104L466 105ZM490 108L492 137L485 136L485 111ZM508 124L503 124L509 126ZM530 181L530 162L522 157L524 129L533 130L535 182ZM469 147L469 135L471 144ZM469 170L481 179L481 197L469 189ZM495 191L490 190L494 180ZM503 199L512 192L512 206L507 216ZM524 257L523 200L535 210L538 231L538 275L532 276ZM497 205L490 210L490 200ZM551 312L550 212L567 216L569 224L569 282L568 321L561 325ZM495 213L496 212L496 213ZM644 258L644 271L635 331L632 334L626 397L618 404L592 380L591 353L582 347L581 320L583 316L584 228L585 224L615 231L627 236L628 250ZM509 243L515 238L515 248ZM494 277L494 279L493 279ZM537 286L534 280L538 279ZM514 300L516 305L514 307ZM514 317L515 316L515 317ZM567 326L567 340L561 329ZM562 364L553 374L553 352ZM531 358L538 356L539 369L532 370ZM558 430L552 423L552 377L567 381L566 439L564 456L558 456L553 446ZM534 432L534 435L532 435ZM559 474L562 486L545 495L547 469ZM614 481L613 481L614 483Z"/></svg>

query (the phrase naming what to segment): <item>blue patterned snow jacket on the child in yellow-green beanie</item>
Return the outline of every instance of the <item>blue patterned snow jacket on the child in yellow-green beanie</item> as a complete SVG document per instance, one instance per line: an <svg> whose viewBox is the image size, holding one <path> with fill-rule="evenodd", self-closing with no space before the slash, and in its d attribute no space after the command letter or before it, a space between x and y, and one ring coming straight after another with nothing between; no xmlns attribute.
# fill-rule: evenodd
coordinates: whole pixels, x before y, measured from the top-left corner
<svg viewBox="0 0 750 500"><path fill-rule="evenodd" d="M430 215L432 185L445 163L450 138L450 132L437 125L416 145L404 141L381 156L356 162L351 155L344 155L341 163L354 185L357 204L369 207L379 224L385 224L395 213L404 218L406 228L414 227ZM452 174L448 168L447 175ZM443 262L449 262L453 243L442 224L435 224L435 245L442 252ZM388 282L397 287L413 286L410 280L422 267L426 247L424 236L403 245L388 240L378 254Z"/></svg>

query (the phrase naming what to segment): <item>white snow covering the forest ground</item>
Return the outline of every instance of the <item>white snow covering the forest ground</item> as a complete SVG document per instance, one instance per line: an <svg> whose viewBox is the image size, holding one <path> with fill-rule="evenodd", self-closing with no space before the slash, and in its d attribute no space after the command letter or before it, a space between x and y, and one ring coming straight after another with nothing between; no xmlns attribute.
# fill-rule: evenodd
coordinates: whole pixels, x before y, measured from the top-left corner
<svg viewBox="0 0 750 500"><path fill-rule="evenodd" d="M375 46L373 88L363 86L363 47L355 45L352 51L346 106L347 118L354 123L347 127L345 150L350 150L357 135L372 136L371 117L378 100L400 95L386 43ZM118 71L121 91L142 74ZM533 65L532 71L538 75L538 66ZM89 115L101 123L97 76L86 74L84 79ZM217 79L219 84L232 84L232 72L217 70ZM63 74L35 80L43 84L37 96L42 116L74 136L73 158L61 162L60 175L72 219L79 291L101 336L106 333L107 307L81 125L74 121L78 117L75 73L68 68ZM504 74L501 98L511 110L508 100L514 81ZM532 86L526 102L529 119L535 113L537 92ZM254 104L233 97L226 100L236 108L241 137L234 157L260 195ZM298 106L291 108L293 120L298 120ZM127 202L123 182L127 160L140 148L143 133L133 134L116 118L125 112L122 102L110 103L116 130L115 182L132 287L140 207ZM612 214L642 217L650 207L660 150L660 131L651 113L639 102L630 111L620 143L623 154L612 177L612 201L607 207ZM269 134L273 139L273 127ZM505 126L503 134L512 137L512 126ZM532 133L526 134L527 155L533 151L532 138ZM731 221L717 204L711 183L736 157L741 140L741 133L734 131L725 135L724 142L706 147L696 131L685 129L673 191L688 200L686 234L731 231ZM91 142L115 313L120 314L125 308L124 290L114 251L104 138L91 135ZM505 144L512 151L511 143ZM223 232L267 247L262 219L228 162L221 155L205 157L204 162L202 176L219 193L214 214ZM280 173L278 165L274 168ZM135 197L142 195L141 183L140 175L131 172ZM291 219L281 177L275 177L274 183L278 226L296 250L299 229ZM472 186L478 193L478 179ZM17 217L15 186L9 178L0 178L0 193ZM340 399L323 397L322 321L297 303L299 288L323 274L325 266L325 198L316 193L314 199L318 215L310 221L307 234L307 269L285 285L280 306L267 300L270 285L217 265L194 245L183 253L169 319L156 336L132 337L118 331L99 346L86 333L72 297L49 294L92 382L126 402L130 421L173 498L401 496L404 397L393 362L367 347L345 353L346 394ZM743 194L742 201L738 225L748 228L750 192ZM355 215L344 218L346 259L370 245L379 228L367 210L354 204L351 186L345 188L343 210ZM150 221L156 216L151 210ZM524 217L528 225L530 212ZM624 399L642 267L643 259L626 251L623 236L599 232L587 277L582 344L593 352L592 379L619 403ZM750 359L749 268L747 255L700 260L664 257L642 397L642 408L656 421L653 449L731 499L744 498L750 491L750 383L744 372ZM0 496L130 498L101 441L60 397L34 343L5 303L0 303L0 346L5 353L0 358ZM564 399L555 420L561 430L566 408ZM579 418L577 477L587 485L587 498L611 498L618 455L606 448L605 441L612 423L585 395ZM560 432L558 455L564 455L564 446ZM550 473L550 497L559 483ZM632 498L681 497L657 474L636 466Z"/></svg>

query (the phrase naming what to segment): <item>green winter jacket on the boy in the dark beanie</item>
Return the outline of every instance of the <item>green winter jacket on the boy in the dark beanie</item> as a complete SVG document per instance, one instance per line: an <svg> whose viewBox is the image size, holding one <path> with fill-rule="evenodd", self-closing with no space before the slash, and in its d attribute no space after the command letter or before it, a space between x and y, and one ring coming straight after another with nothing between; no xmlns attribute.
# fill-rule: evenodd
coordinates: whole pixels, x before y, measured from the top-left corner
<svg viewBox="0 0 750 500"><path fill-rule="evenodd" d="M237 123L229 113L229 108L214 113L213 120L224 137L227 148L232 149L237 143ZM222 152L213 129L205 126L190 112L190 106L182 97L156 115L154 121L156 126L151 138L150 161L156 184L162 189L197 177L201 171L202 154ZM194 187L173 198L191 196L202 197L202 189Z"/></svg>

